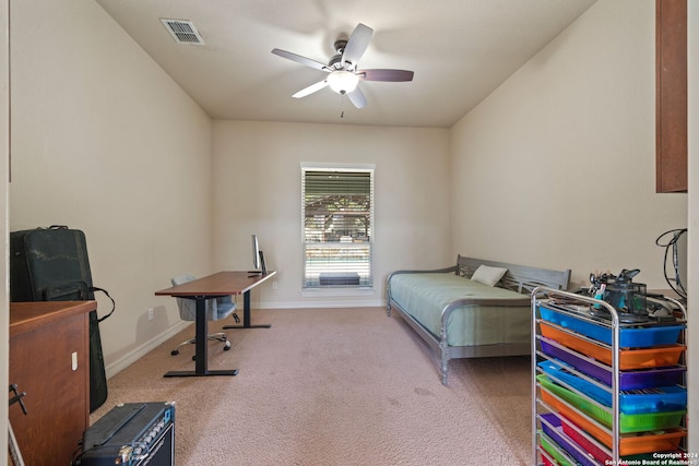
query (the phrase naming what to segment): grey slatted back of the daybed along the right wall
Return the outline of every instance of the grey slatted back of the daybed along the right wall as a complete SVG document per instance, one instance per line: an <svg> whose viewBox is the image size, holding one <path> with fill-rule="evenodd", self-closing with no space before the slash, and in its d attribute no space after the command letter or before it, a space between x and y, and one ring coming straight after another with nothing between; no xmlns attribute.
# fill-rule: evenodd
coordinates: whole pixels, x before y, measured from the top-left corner
<svg viewBox="0 0 699 466"><path fill-rule="evenodd" d="M497 286L518 292L531 294L537 286L566 290L570 285L570 268L552 271L548 268L508 264L506 262L464 258L463 255L457 258L457 275L471 278L481 264L507 268L507 273L500 278Z"/></svg>

